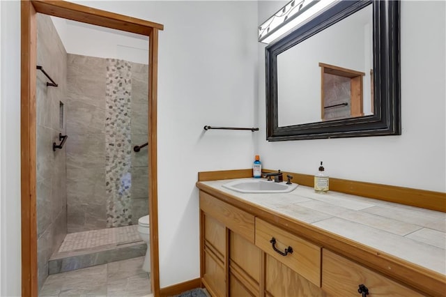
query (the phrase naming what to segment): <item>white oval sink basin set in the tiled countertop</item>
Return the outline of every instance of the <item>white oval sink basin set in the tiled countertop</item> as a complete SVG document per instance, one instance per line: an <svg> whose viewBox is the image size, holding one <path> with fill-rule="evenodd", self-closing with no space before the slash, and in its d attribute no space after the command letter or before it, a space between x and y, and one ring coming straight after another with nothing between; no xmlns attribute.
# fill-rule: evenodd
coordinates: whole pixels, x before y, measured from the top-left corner
<svg viewBox="0 0 446 297"><path fill-rule="evenodd" d="M231 181L222 185L223 188L240 193L288 193L298 187L297 183L287 185L286 182L275 183L259 178L243 179L241 181Z"/></svg>

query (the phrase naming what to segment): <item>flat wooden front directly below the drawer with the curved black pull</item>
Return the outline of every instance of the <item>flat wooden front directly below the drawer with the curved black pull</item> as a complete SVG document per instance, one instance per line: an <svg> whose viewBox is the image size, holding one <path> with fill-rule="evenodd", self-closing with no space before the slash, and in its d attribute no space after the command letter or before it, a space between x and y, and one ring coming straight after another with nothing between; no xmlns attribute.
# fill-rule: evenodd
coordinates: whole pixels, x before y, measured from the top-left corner
<svg viewBox="0 0 446 297"><path fill-rule="evenodd" d="M309 282L305 277L295 273L274 257L266 254L265 263L265 291L266 296L298 297L298 296L324 296L322 290Z"/></svg>

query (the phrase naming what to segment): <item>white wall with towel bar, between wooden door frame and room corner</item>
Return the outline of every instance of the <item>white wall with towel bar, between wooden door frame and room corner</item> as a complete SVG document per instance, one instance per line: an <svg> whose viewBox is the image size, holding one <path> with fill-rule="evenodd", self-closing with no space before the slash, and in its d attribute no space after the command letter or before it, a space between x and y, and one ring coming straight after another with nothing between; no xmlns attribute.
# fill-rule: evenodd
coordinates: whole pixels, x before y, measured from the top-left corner
<svg viewBox="0 0 446 297"><path fill-rule="evenodd" d="M158 61L160 285L199 277L197 172L247 168L254 161L254 133L203 132L203 126L254 125L257 3L79 3L164 24Z"/></svg>

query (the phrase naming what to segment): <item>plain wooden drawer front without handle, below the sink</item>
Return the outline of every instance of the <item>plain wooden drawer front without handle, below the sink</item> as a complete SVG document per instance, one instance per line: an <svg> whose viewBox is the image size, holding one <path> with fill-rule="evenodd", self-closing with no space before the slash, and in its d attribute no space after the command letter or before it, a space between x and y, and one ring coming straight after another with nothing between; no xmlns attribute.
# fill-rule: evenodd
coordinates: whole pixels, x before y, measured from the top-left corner
<svg viewBox="0 0 446 297"><path fill-rule="evenodd" d="M200 191L200 209L254 243L254 215Z"/></svg>

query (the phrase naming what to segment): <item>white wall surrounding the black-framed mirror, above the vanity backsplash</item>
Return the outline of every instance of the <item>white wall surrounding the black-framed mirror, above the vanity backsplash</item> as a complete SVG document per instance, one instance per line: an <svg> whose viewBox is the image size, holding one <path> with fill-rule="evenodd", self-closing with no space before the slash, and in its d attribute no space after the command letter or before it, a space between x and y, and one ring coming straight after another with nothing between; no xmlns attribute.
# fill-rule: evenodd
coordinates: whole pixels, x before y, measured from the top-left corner
<svg viewBox="0 0 446 297"><path fill-rule="evenodd" d="M259 16L275 13L279 3L272 4L260 1ZM445 192L445 5L401 3L401 136L266 142L265 46L259 44L263 166L314 174L323 160L337 178Z"/></svg>

